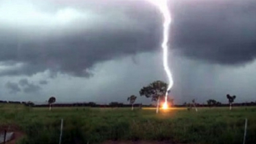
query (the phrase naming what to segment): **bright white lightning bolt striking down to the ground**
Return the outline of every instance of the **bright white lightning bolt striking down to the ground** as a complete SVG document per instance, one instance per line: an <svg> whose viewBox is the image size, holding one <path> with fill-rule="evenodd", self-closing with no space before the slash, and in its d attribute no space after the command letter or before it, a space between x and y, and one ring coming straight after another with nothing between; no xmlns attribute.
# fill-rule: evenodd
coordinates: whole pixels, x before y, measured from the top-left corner
<svg viewBox="0 0 256 144"><path fill-rule="evenodd" d="M174 82L172 80L172 73L170 71L169 65L168 65L168 40L169 40L169 30L170 30L170 24L172 22L171 18L171 13L170 10L168 9L167 5L167 0L148 0L154 5L156 5L161 13L163 14L163 43L161 47L163 48L163 67L165 69L165 72L167 74L167 77L169 79L169 85L167 88L167 92L170 91L172 88ZM168 93L165 94L165 103L163 104L163 108L167 106L167 95Z"/></svg>

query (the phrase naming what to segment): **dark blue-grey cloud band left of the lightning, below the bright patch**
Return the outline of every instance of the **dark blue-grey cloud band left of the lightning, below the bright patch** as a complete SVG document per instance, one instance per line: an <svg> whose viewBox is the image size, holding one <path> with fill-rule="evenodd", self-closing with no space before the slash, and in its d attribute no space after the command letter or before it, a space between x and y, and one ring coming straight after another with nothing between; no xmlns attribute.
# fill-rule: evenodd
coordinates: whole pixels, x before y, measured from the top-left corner
<svg viewBox="0 0 256 144"><path fill-rule="evenodd" d="M49 70L52 73L89 77L91 75L89 68L97 62L154 49L159 41L159 38L153 38L155 33L157 33L155 30L151 32L105 30L102 34L85 32L85 34L47 40L44 43L20 43L19 49L15 40L10 40L11 45L0 48L3 51L0 60L23 62L23 66L1 71L0 75L33 75Z"/></svg>

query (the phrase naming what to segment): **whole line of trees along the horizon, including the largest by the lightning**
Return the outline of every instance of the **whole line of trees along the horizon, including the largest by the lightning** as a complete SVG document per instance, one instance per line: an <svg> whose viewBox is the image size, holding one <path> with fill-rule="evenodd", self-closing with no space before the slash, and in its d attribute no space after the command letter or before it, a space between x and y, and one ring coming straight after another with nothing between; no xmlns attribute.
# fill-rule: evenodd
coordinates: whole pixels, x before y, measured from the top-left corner
<svg viewBox="0 0 256 144"><path fill-rule="evenodd" d="M232 106L256 106L256 101L251 101L251 102L244 102L244 103L235 103L235 98L236 96L233 95L226 95L226 98L228 99L228 104L221 104L220 101L216 101L215 99L209 99L207 100L207 104L198 104L196 103L196 99L192 99L191 103L187 103L185 102L182 105L175 105L174 104L174 99L170 99L170 97L168 97L168 94L170 93L170 91L167 91L167 84L165 82L162 82L160 80L152 82L151 84L149 84L148 86L143 86L140 91L139 91L139 95L146 97L146 98L150 98L152 99L152 101L156 102L156 113L159 112L159 105L160 103L163 104L163 102L167 101L169 106L173 106L173 107L187 107L188 110L191 110L192 107L195 108L196 111L198 111L197 107L208 107L211 108L213 106L218 107L218 106L229 106L229 109L232 109ZM167 97L165 97L167 96ZM48 107L49 106L49 110L51 110L51 107L79 107L79 106L87 106L87 107L101 107L101 108L117 108L117 107L131 107L132 110L134 109L134 107L155 107L154 105L150 104L150 105L142 105L142 104L135 104L135 101L137 99L137 96L135 95L130 95L127 98L127 101L129 102L129 104L123 104L123 103L119 103L117 101L113 101L110 102L110 104L96 104L93 101L90 102L78 102L78 103L67 103L67 104L56 104L56 97L51 96L49 97L48 101L46 101L46 104L34 104L32 101L1 101L0 100L0 104L1 103L9 103L9 104L25 104L25 106L30 106L30 107Z"/></svg>

